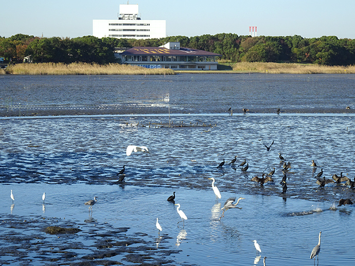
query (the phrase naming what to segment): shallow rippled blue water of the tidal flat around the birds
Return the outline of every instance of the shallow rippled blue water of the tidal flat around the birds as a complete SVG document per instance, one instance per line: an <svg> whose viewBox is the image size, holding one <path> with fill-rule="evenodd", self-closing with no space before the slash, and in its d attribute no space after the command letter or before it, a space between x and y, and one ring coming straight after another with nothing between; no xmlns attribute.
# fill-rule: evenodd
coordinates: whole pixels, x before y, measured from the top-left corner
<svg viewBox="0 0 355 266"><path fill-rule="evenodd" d="M123 87L122 90L131 89L141 105L146 106L146 113L0 119L0 191L4 195L0 213L5 232L0 243L6 246L0 252L0 260L13 265L29 259L32 259L31 265L87 261L96 265L99 262L87 256L107 252L107 260L127 265L143 263L130 257L133 255L146 255L144 262L161 261L176 265L228 265L236 262L238 265L262 265L264 256L268 257L267 265L312 265L313 260L309 256L317 244L319 231L322 231L318 264L353 264L353 206L335 206L341 198L353 199L354 192L344 183L319 188L315 175L323 168L326 178L343 172L353 180L354 115L351 109L350 113L308 113L307 110L312 105L312 97L326 99L334 94L340 97L330 97L334 101L326 103L314 103L317 110L333 110L340 103L352 106L353 99L347 93L352 93L354 76L265 77L248 74L165 77L171 79L164 81L167 86L149 92L142 89L145 85L141 84L142 80L152 79L152 84L162 84L164 78L131 77L142 86L132 88L129 87L132 82L124 82L122 77L15 77L9 83L8 91L14 91L17 84L17 90L25 93L22 82L28 82L27 101L36 105L39 103L34 99L41 99L43 108L51 111L59 108L60 101L66 97L72 102L63 107L64 111L77 108L79 103L90 102L90 97L70 92L80 83L82 89L93 89L85 85L85 79L94 80L100 88L113 88L116 81L121 80L117 86ZM228 104L221 104L227 97L220 102L213 101L216 96L211 93L214 86L226 91L223 96L236 97L236 87L244 84L244 80L247 80L247 86L260 88L257 89L259 93L252 93L255 102L246 100L239 103L240 107L244 107L246 102L248 107L264 105L262 109L265 112L273 111L249 112L246 115L234 113L230 116L226 110ZM57 95L58 99L50 100L53 98L51 93L41 98L35 93L34 88L42 91L41 88L44 90L49 81L55 81L50 83L50 88L56 88L58 84L57 89L64 90L61 96ZM301 102L300 105L297 103L297 108L301 106L302 113L281 111L277 115L274 107L271 108L270 103L263 99L265 90L273 88L272 93L282 90L280 84L297 84L289 88L288 95L298 95L302 93L298 91L300 84L306 86L309 82L312 86L308 98L295 96L289 99L291 103ZM192 90L199 91L196 101L192 99L192 93L184 97L184 89L177 89L180 88L178 84L184 88L187 83L194 84ZM317 84L321 86L316 87ZM328 84L328 92L318 96L316 91L324 89L325 84ZM208 88L206 91L205 87ZM333 89L329 91L329 88ZM244 90L245 87L241 89ZM93 89L92 95L95 94L95 99L105 99L103 104L113 104L112 95L106 90L100 93ZM164 98L167 93L169 98ZM274 99L279 98L272 95ZM96 106L95 99L93 105ZM133 100L133 105L137 104L136 101ZM122 102L127 106L129 101ZM165 113L156 114L156 108L162 106L153 106L155 104L163 104ZM19 111L14 105L11 107L14 112ZM171 111L171 125L183 127L162 127L162 124L169 124L167 107ZM249 108L253 110L253 107ZM281 110L292 108L290 103L281 106ZM220 112L217 111L219 109ZM111 113L112 106L105 110ZM189 111L193 113L188 114ZM267 151L263 143L270 145L272 141L274 144ZM125 151L130 144L146 145L150 153L133 153L127 157ZM286 195L281 194L279 184L283 173L278 153L292 165L287 172ZM234 166L227 164L234 156L237 156L237 163ZM217 168L223 159L226 164L221 169ZM244 159L250 166L246 173L238 167ZM318 164L317 169L313 169L311 160ZM123 165L126 165L126 176L120 184L117 183L117 173ZM260 177L262 173L269 173L273 167L275 182L260 186L251 181L256 175ZM220 204L215 202L208 180L211 177L216 179L221 191ZM14 205L9 197L10 189L15 195ZM181 204L188 217L184 226L177 224L180 217L176 206L166 201L173 191L176 192L175 202ZM47 195L44 205L41 199L43 192ZM98 202L93 206L92 216L89 216L83 203L94 196L98 197ZM242 210L228 210L219 221L220 208L232 196L245 198L239 203ZM163 227L160 237L155 228L156 217ZM24 220L32 221L28 225L31 230L26 230ZM75 236L60 236L56 240L56 236L42 231L52 224L80 227L82 232ZM349 225L346 230L344 224ZM124 232L112 233L116 231ZM36 242L42 241L43 245L36 245L37 249L31 250L30 246L27 248L22 243L21 249L17 246L21 241L16 237L21 239L25 235L41 239ZM134 240L134 243L119 245L120 252L117 245L102 248L102 243L121 243L125 239ZM261 246L260 258L256 257L254 239ZM77 244L73 247L68 243ZM51 245L54 250L50 249ZM55 253L57 250L62 253ZM109 252L113 253L110 255ZM69 254L72 257L69 258ZM53 258L58 260L51 261Z"/></svg>

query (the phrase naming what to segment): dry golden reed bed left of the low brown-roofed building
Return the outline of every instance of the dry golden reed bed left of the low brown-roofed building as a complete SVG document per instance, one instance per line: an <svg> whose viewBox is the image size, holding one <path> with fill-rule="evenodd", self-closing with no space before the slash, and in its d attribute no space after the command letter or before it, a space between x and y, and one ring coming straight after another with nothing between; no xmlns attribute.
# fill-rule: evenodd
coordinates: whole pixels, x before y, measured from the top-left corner
<svg viewBox="0 0 355 266"><path fill-rule="evenodd" d="M87 64L87 63L35 63L35 64L16 64L6 68L10 74L22 75L173 75L172 69L165 68L144 68L139 66L120 65L120 64Z"/></svg>

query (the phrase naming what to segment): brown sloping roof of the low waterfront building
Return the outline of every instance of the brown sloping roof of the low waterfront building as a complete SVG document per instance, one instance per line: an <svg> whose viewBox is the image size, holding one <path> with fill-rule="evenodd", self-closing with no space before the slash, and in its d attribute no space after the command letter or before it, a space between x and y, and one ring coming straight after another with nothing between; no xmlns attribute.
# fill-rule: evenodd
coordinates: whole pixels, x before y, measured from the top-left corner
<svg viewBox="0 0 355 266"><path fill-rule="evenodd" d="M121 53L122 55L199 55L199 56L221 56L218 53L206 52L203 50L183 48L180 50L167 49L165 47L133 47Z"/></svg>

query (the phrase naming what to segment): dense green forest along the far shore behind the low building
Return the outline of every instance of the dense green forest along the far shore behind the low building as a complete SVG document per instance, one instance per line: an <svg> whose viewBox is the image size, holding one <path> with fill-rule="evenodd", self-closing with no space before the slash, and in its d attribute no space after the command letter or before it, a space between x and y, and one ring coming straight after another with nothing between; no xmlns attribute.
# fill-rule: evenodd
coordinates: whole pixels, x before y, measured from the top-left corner
<svg viewBox="0 0 355 266"><path fill-rule="evenodd" d="M77 38L41 38L16 34L0 36L0 56L6 62L23 62L31 55L32 62L99 63L116 62L115 47L161 46L179 41L182 47L221 54L228 62L289 62L320 65L354 65L355 40L323 36L305 39L294 36L241 36L232 33L202 36L169 36L162 39L134 40L94 36Z"/></svg>

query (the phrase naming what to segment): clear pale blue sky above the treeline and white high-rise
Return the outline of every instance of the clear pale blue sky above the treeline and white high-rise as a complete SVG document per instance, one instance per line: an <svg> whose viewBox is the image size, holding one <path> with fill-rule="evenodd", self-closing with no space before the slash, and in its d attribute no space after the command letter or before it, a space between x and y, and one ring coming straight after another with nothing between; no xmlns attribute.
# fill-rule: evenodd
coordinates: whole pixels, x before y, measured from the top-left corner
<svg viewBox="0 0 355 266"><path fill-rule="evenodd" d="M92 35L92 21L114 20L127 0L1 0L0 36ZM166 20L168 36L203 34L335 35L355 38L355 0L135 0L143 20Z"/></svg>

